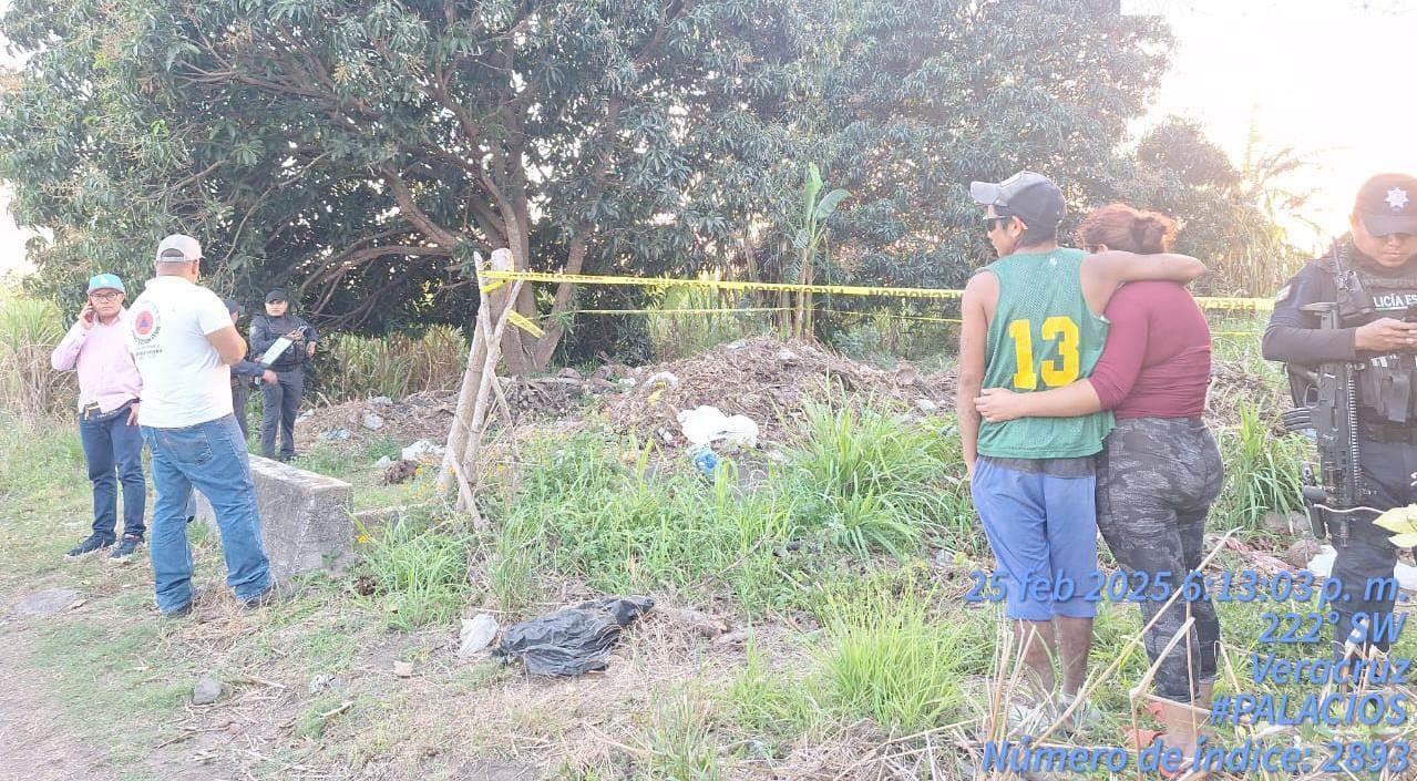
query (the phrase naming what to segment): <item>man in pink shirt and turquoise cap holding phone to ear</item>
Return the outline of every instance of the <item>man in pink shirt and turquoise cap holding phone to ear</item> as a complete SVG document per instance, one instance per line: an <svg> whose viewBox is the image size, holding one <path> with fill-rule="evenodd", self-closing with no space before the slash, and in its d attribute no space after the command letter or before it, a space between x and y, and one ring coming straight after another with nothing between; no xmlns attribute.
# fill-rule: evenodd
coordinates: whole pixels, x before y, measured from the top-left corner
<svg viewBox="0 0 1417 781"><path fill-rule="evenodd" d="M67 554L78 558L109 549L109 560L123 561L143 544L143 435L137 404L143 380L128 349L128 309L123 281L112 274L89 279L88 303L50 356L57 371L79 374L79 439L94 483L94 533ZM123 485L123 539L115 539L118 485ZM116 543L116 544L115 544Z"/></svg>

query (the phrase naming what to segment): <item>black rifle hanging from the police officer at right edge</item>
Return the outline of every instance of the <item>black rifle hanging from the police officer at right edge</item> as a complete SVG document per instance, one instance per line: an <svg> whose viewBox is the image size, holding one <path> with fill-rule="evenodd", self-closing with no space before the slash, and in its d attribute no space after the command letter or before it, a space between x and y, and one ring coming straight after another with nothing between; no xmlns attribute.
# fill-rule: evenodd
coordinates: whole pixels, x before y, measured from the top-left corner
<svg viewBox="0 0 1417 781"><path fill-rule="evenodd" d="M1345 323L1338 303L1309 303L1302 308L1319 316L1321 329ZM1362 505L1362 466L1357 448L1357 380L1360 364L1322 363L1315 369L1289 367L1289 390L1295 410L1282 415L1288 431L1314 432L1318 445L1319 475L1304 465L1304 506L1309 513L1314 536L1332 536L1335 547L1348 544L1348 513Z"/></svg>

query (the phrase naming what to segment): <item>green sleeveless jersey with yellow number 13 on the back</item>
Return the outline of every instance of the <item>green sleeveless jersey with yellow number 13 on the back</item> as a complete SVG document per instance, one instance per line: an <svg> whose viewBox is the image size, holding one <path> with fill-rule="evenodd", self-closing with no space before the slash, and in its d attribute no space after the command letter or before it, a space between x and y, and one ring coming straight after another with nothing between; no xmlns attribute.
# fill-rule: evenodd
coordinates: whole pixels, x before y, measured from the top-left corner
<svg viewBox="0 0 1417 781"><path fill-rule="evenodd" d="M983 387L1032 393L1087 377L1107 343L1107 318L1083 298L1081 249L1015 254L983 271L999 279L989 322ZM979 454L995 458L1076 458L1102 449L1112 412L1080 418L979 422Z"/></svg>

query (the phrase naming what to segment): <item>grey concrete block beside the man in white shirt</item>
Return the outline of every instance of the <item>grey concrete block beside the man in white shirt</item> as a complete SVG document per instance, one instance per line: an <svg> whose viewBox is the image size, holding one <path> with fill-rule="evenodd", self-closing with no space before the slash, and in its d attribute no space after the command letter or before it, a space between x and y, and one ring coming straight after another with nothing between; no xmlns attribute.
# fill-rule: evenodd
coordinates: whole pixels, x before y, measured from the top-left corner
<svg viewBox="0 0 1417 781"><path fill-rule="evenodd" d="M359 534L350 519L354 486L258 455L251 456L251 478L261 510L261 537L276 580L341 570L353 563ZM197 520L220 537L211 503L200 490Z"/></svg>

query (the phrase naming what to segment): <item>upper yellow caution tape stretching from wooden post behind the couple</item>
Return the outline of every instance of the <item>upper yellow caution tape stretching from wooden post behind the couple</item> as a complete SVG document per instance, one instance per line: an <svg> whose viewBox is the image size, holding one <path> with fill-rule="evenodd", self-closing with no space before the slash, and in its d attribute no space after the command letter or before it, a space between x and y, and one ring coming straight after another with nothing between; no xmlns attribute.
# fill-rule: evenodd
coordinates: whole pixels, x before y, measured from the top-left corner
<svg viewBox="0 0 1417 781"><path fill-rule="evenodd" d="M479 274L482 279L492 279L495 283L521 279L523 282L554 282L571 285L638 285L642 288L708 288L716 291L737 292L806 292L833 293L843 296L900 296L900 298L935 298L958 299L964 291L947 288L871 288L862 285L794 285L786 282L743 282L730 279L672 279L667 276L605 276L589 274L547 274L538 271L495 271L487 269ZM483 291L493 289L493 285L483 286ZM1270 310L1274 300L1267 298L1233 298L1233 296L1197 296L1196 303L1203 309L1247 309Z"/></svg>

